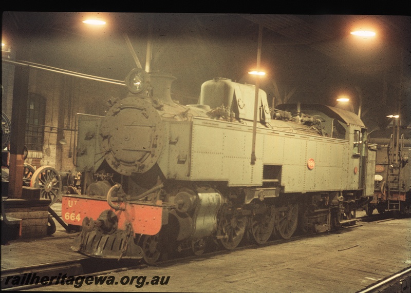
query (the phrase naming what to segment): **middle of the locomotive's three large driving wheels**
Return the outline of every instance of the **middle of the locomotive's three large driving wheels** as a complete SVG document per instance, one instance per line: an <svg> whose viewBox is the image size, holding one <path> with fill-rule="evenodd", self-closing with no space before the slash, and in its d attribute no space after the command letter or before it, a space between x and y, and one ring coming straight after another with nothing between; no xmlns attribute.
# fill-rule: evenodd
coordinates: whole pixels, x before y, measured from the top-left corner
<svg viewBox="0 0 411 293"><path fill-rule="evenodd" d="M257 213L250 218L250 231L257 244L264 244L271 237L274 219L269 212Z"/></svg>

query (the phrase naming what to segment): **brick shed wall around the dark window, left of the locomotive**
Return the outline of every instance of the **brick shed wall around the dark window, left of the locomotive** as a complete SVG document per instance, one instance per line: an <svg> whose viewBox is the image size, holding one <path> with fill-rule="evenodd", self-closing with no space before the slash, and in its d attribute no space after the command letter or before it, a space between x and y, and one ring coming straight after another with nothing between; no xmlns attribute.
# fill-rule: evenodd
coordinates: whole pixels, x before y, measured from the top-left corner
<svg viewBox="0 0 411 293"><path fill-rule="evenodd" d="M5 94L2 107L10 119L13 78L14 65L3 66L2 83ZM76 134L63 128L75 128L76 113L104 115L108 109L107 100L123 97L127 90L115 84L30 68L29 92L39 94L46 99L45 125L47 127L45 127L43 151L29 152L31 157L26 159L26 163L35 163L35 167L38 167L40 161L41 166L51 166L59 172L74 172ZM63 138L67 142L65 145L59 143Z"/></svg>

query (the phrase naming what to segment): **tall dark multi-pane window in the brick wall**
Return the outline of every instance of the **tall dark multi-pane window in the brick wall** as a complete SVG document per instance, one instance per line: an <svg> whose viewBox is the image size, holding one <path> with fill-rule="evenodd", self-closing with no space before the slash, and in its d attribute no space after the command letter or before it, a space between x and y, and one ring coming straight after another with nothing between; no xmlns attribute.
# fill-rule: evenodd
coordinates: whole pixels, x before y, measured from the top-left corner
<svg viewBox="0 0 411 293"><path fill-rule="evenodd" d="M29 150L43 150L46 99L29 93L26 113L26 138L24 144Z"/></svg>

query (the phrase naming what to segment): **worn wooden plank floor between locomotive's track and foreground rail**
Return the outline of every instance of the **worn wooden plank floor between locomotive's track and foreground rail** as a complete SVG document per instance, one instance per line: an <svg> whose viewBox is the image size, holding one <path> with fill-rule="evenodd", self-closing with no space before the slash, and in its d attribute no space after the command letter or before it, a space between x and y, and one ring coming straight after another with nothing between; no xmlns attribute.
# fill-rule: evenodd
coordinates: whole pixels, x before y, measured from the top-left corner
<svg viewBox="0 0 411 293"><path fill-rule="evenodd" d="M33 253L35 249L40 248L33 247ZM346 293L410 266L411 219L395 219L360 222L338 233L106 275L115 277L117 285L53 285L33 290ZM146 282L155 276L170 279L166 285L136 288L137 279L132 285L120 284L127 276L146 276Z"/></svg>

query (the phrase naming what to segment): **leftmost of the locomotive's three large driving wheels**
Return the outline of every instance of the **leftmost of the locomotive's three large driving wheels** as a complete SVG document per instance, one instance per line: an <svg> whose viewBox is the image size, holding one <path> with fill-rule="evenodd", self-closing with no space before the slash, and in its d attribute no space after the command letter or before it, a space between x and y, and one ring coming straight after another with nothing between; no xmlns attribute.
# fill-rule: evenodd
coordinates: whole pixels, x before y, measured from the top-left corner
<svg viewBox="0 0 411 293"><path fill-rule="evenodd" d="M234 249L240 244L246 231L247 218L233 213L223 213L217 231L217 238L226 249Z"/></svg>

